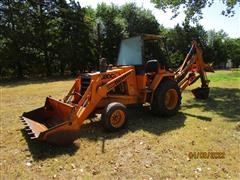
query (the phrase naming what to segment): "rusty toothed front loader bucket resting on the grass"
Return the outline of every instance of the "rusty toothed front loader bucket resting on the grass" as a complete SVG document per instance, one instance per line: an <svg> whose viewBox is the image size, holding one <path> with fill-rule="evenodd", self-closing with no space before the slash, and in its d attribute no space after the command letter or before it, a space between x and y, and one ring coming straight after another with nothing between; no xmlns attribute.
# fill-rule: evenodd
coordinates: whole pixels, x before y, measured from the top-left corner
<svg viewBox="0 0 240 180"><path fill-rule="evenodd" d="M47 97L43 107L23 113L20 120L31 139L67 145L75 140L77 131L69 120L72 109L69 104Z"/></svg>

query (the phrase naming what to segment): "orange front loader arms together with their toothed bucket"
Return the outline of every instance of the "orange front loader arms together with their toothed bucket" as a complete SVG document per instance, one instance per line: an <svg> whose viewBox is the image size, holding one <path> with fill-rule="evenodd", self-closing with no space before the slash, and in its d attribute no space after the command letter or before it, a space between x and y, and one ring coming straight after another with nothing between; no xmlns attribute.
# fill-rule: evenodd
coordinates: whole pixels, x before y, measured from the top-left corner
<svg viewBox="0 0 240 180"><path fill-rule="evenodd" d="M101 74L96 74L96 78L91 79L83 95L80 94L79 77L63 102L47 97L43 107L23 113L20 120L26 126L31 139L57 145L72 143L77 138L83 122L107 93L135 74L134 69L119 73L119 76L105 84L102 82Z"/></svg>

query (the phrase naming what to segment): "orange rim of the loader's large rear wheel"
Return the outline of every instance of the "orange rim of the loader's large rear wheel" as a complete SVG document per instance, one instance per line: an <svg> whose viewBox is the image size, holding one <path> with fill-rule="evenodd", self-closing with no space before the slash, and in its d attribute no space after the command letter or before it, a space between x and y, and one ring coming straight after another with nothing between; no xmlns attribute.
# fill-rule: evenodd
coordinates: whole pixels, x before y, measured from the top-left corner
<svg viewBox="0 0 240 180"><path fill-rule="evenodd" d="M169 89L165 95L165 101L164 101L165 107L168 110L172 110L176 107L177 102L178 102L177 91L175 89Z"/></svg>

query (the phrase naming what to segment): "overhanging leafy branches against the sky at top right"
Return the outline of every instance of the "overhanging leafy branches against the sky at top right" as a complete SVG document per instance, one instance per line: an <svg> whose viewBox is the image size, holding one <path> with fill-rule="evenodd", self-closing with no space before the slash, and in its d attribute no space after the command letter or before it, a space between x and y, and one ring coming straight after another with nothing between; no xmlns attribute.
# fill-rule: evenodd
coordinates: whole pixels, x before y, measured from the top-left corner
<svg viewBox="0 0 240 180"><path fill-rule="evenodd" d="M197 22L202 18L202 9L205 7L210 7L215 2L214 0L151 0L157 8L165 11L167 8L172 9L174 12L174 16L176 17L179 14L179 8L183 7L185 9L186 21L192 20ZM222 3L226 6L225 10L222 10L222 14L225 16L233 16L235 14L234 7L240 5L240 0L226 0L222 1Z"/></svg>

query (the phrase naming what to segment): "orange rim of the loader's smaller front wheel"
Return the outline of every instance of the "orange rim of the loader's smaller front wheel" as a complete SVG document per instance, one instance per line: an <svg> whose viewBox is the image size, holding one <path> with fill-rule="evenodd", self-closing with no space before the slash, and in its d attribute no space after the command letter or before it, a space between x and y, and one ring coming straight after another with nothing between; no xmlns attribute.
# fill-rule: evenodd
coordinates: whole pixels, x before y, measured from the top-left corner
<svg viewBox="0 0 240 180"><path fill-rule="evenodd" d="M110 117L111 125L115 128L120 128L125 121L125 113L122 110L116 110Z"/></svg>

